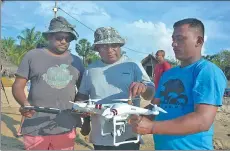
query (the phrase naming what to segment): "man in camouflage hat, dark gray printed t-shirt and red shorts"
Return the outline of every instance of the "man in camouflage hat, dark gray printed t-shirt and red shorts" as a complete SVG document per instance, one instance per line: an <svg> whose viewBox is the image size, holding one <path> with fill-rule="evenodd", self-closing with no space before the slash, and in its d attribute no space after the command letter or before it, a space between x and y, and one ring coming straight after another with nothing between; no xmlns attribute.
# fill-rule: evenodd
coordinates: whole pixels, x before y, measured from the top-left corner
<svg viewBox="0 0 230 151"><path fill-rule="evenodd" d="M53 18L49 31L43 36L46 48L30 50L23 58L16 73L12 92L25 116L22 134L26 150L73 150L76 127L81 126L79 116L69 112L69 101L74 101L84 67L82 61L68 51L70 42L77 40L74 27L63 17ZM28 98L24 93L31 81ZM24 110L23 106L53 107L63 110L60 114Z"/></svg>

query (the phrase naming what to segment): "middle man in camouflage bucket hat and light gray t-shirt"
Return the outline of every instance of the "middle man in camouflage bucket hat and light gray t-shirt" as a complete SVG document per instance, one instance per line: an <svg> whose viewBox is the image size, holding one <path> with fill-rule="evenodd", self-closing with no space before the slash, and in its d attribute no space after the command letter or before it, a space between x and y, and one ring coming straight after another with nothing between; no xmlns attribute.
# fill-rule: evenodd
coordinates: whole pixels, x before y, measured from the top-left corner
<svg viewBox="0 0 230 151"><path fill-rule="evenodd" d="M98 51L101 60L88 66L83 74L82 82L76 100L101 99L98 103L113 103L112 99L134 98L141 95L151 100L154 94L154 84L140 63L136 63L121 55L121 47L125 40L112 27L98 28L94 33L93 48ZM139 106L140 102L133 102ZM113 145L113 136L101 135L101 116L91 115L92 131L90 141L95 150L139 150L140 144ZM105 131L112 132L112 122L106 122ZM125 133L118 141L136 139L131 127L127 126Z"/></svg>

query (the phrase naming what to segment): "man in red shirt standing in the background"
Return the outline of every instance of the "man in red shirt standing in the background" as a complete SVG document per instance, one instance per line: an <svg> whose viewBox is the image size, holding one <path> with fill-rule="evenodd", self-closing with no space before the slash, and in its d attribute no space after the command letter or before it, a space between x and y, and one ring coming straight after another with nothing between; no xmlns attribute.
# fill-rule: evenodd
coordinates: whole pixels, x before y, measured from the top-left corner
<svg viewBox="0 0 230 151"><path fill-rule="evenodd" d="M160 81L162 74L171 68L171 65L165 60L164 57L165 57L164 50L158 50L156 52L156 59L158 63L156 64L154 68L154 76L153 76L154 77L153 80L154 80L156 89L158 87L158 83Z"/></svg>

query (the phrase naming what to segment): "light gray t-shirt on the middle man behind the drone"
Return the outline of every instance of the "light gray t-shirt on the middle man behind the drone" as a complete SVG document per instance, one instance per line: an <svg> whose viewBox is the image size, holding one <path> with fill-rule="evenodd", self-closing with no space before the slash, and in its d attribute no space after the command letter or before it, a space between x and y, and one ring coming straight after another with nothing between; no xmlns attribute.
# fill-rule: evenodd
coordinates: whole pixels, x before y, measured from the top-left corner
<svg viewBox="0 0 230 151"><path fill-rule="evenodd" d="M113 64L104 64L99 60L85 70L79 93L90 95L91 99L102 99L98 103L113 103L112 99L128 98L130 84L140 81L154 86L140 63L136 63L126 56L122 56ZM140 106L139 101L133 103ZM101 118L100 115L91 116L90 142L95 145L113 146L112 135L101 135ZM112 122L106 122L104 132L112 132L112 129ZM118 137L117 141L121 142L133 137L136 137L136 134L132 132L131 126L127 125L125 134Z"/></svg>

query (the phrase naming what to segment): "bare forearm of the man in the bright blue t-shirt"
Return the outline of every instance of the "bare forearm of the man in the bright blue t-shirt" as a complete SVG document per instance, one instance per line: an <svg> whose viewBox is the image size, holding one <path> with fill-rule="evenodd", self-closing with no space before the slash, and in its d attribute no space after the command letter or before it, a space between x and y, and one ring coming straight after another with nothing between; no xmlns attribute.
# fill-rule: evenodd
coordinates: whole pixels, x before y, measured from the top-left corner
<svg viewBox="0 0 230 151"><path fill-rule="evenodd" d="M152 123L152 133L162 135L187 135L208 129L205 119L196 112L174 120L153 121Z"/></svg>

